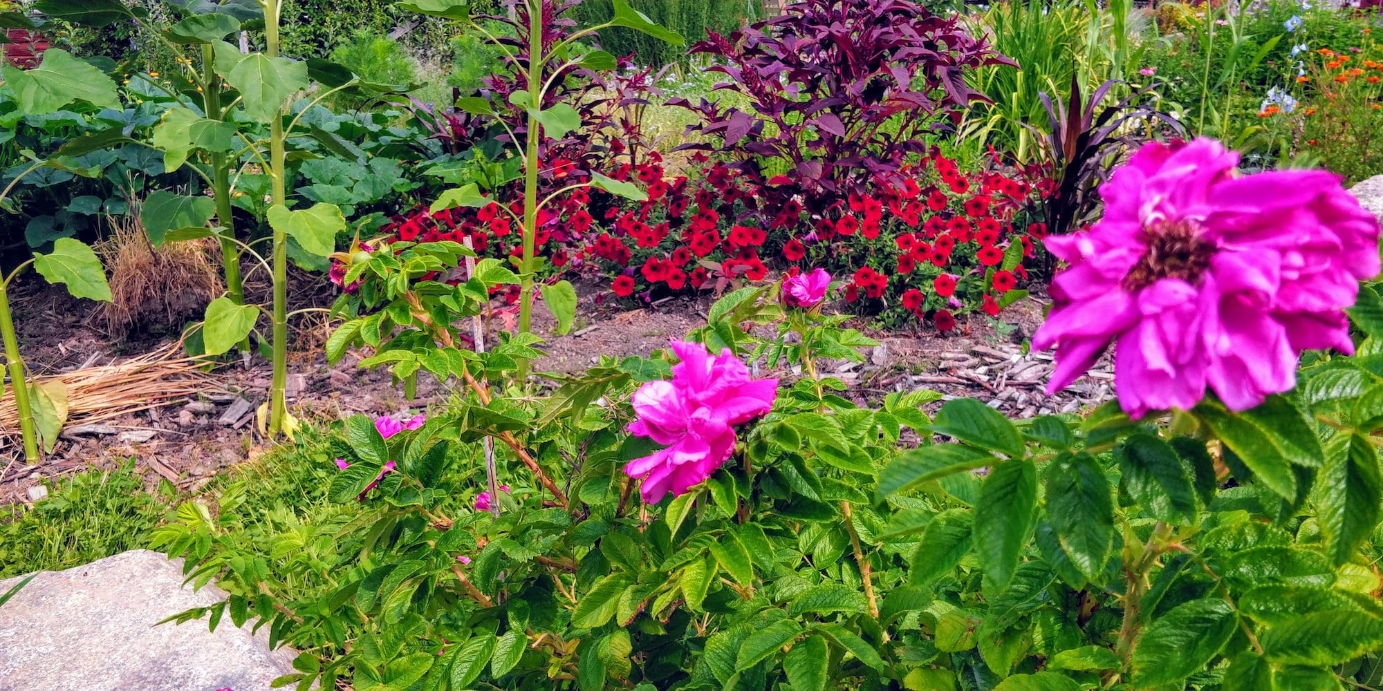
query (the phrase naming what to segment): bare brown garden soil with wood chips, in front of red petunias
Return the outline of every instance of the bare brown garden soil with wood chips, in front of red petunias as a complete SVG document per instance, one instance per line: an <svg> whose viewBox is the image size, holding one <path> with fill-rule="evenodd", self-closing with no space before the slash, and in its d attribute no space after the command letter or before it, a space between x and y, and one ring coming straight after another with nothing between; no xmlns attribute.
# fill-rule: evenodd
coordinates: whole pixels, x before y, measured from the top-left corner
<svg viewBox="0 0 1383 691"><path fill-rule="evenodd" d="M295 282L290 294L301 303L295 308L326 307L335 299L325 281L299 275ZM546 311L535 310L534 332L548 339L548 355L534 365L535 372L571 375L602 355L649 355L667 347L669 339L705 323L714 303L711 296L678 297L625 310L602 300L596 286L581 286L579 293L582 304L571 334L557 336ZM176 339L181 326L170 326L171 334L140 333L118 341L108 337L105 322L90 301L37 281L21 282L12 294L21 348L29 369L37 375L109 365L149 352ZM844 395L859 402L877 402L892 391L932 388L946 398L976 397L1008 415L1030 417L1075 412L1108 399L1113 379L1108 362L1070 390L1057 397L1043 395L1051 358L1025 352L1021 346L1041 323L1041 311L1039 297L1028 297L1005 311L1007 326L999 330L983 318L968 323L963 319L954 333L945 336L931 329L885 333L855 325L881 346L867 348L864 362L824 362L820 370L845 383ZM490 323L490 341L499 330L512 328L512 322L513 314L499 308ZM357 368L368 357L364 352L350 352L336 366L328 366L322 355L322 341L329 333L325 321L307 315L292 326L288 397L290 412L301 420L418 412L451 395L449 388L425 375L419 377L416 398L408 401L387 372ZM759 375L788 380L801 376L799 372ZM111 470L130 459L149 486L167 480L184 492L196 493L221 470L267 451L256 430L256 409L267 399L270 377L266 359L254 357L248 365L235 359L212 372L199 395L174 398L100 424L69 420L54 452L37 464L15 460L17 435L0 438L0 504L41 499L46 482L72 473Z"/></svg>

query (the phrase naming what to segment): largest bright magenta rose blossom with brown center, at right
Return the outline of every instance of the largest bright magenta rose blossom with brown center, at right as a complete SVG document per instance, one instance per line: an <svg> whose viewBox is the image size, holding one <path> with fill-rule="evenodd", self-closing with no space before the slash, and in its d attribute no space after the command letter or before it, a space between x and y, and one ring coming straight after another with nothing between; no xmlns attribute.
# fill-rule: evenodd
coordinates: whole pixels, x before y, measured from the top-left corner
<svg viewBox="0 0 1383 691"><path fill-rule="evenodd" d="M1037 348L1057 347L1048 392L1113 341L1119 404L1134 417L1234 410L1296 386L1308 348L1353 352L1344 308L1379 272L1379 223L1324 170L1235 174L1214 140L1147 144L1101 185L1087 232L1047 238L1070 267L1051 285Z"/></svg>

